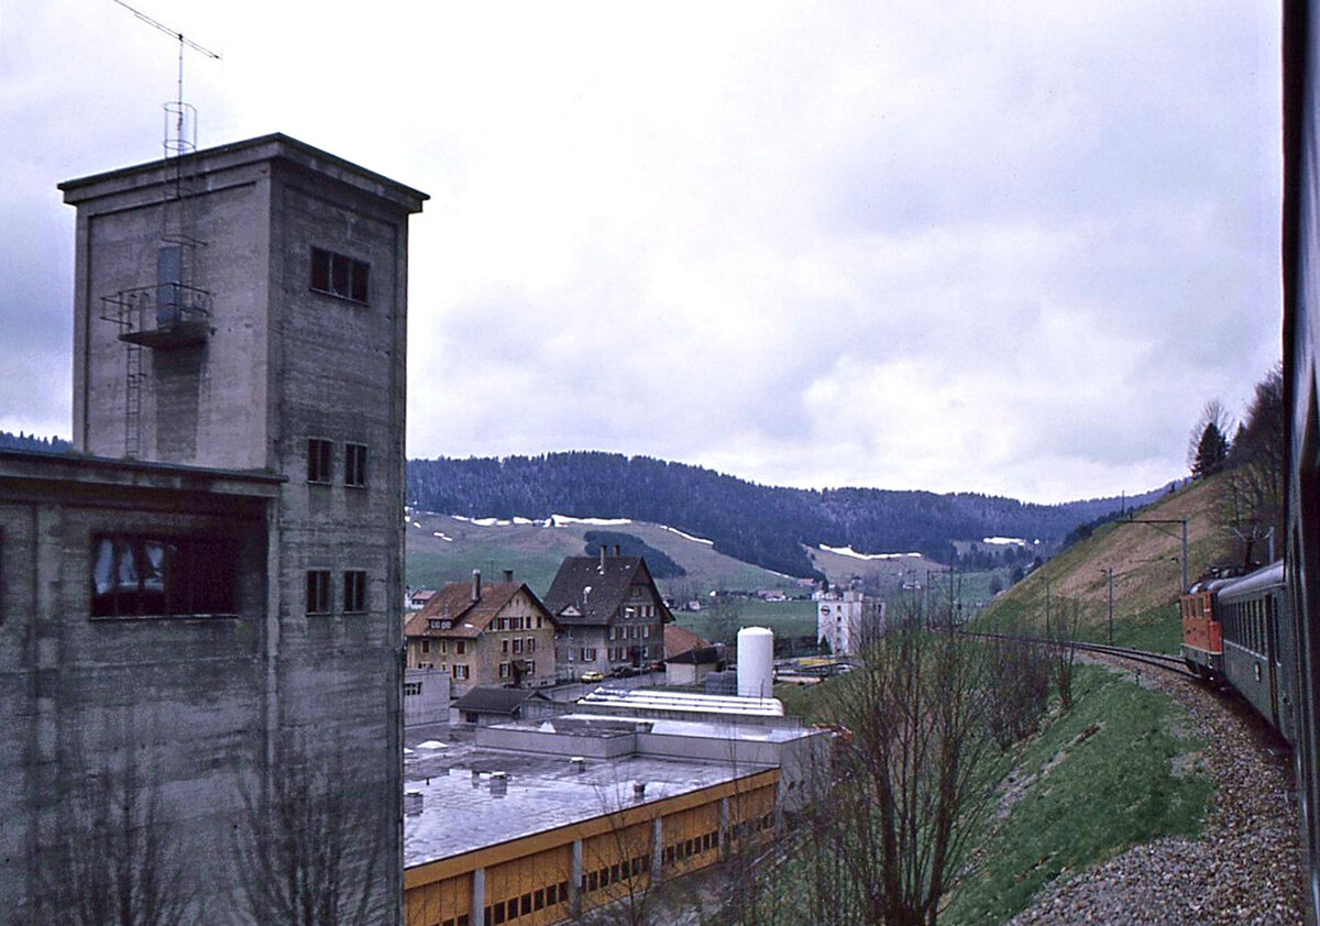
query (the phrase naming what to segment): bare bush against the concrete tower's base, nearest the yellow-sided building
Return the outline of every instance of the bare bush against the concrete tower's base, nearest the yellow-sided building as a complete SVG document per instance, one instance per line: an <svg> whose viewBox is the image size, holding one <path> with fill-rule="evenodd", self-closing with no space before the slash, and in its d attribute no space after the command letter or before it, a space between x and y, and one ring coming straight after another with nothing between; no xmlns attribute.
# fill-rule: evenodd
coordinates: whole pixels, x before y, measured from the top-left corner
<svg viewBox="0 0 1320 926"><path fill-rule="evenodd" d="M359 760L362 761L362 760ZM255 923L364 926L375 921L378 869L388 834L379 809L358 794L371 770L345 749L313 762L302 736L275 749L264 789L243 790L246 831L235 847Z"/></svg>

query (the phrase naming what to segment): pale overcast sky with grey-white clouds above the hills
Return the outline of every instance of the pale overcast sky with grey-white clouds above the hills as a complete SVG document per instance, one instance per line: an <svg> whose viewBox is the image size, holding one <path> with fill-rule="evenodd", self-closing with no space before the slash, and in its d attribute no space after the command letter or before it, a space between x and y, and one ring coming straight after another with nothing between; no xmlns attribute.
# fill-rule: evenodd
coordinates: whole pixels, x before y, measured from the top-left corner
<svg viewBox="0 0 1320 926"><path fill-rule="evenodd" d="M1061 501L1185 471L1278 360L1278 4L133 5L203 146L432 195L411 456L609 450ZM73 210L177 41L0 0L0 429L70 433Z"/></svg>

